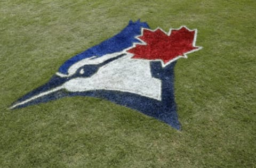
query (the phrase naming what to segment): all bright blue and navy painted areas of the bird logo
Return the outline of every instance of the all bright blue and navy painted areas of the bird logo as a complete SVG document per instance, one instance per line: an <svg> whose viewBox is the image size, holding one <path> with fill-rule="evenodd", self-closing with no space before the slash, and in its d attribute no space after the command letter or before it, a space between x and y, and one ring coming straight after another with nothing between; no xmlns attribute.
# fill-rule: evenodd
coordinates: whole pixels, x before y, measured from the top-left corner
<svg viewBox="0 0 256 168"><path fill-rule="evenodd" d="M103 56L109 53L116 53L122 51L123 49L132 46L132 43L138 42L134 37L140 35L141 28L148 28L147 23L141 23L137 21L133 23L129 22L129 25L118 33L113 38L110 38L106 41L103 41L101 44L94 46L92 48L87 49L85 52L78 54L70 60L66 61L59 69L60 72L66 73L68 68L86 57L90 56ZM58 75L53 75L49 82L45 85L38 87L37 89L31 91L27 95L23 96L14 104L19 102L23 102L35 95L43 93L47 90L51 90L56 88L66 81L77 78L77 77L90 77L92 74L97 73L98 69L111 62L119 57L125 56L125 54L119 55L115 58L110 58L109 60L97 64L97 65L84 65L79 68L77 72L71 77L59 77ZM122 91L115 90L93 90L93 91L84 91L84 92L67 92L62 89L51 93L49 95L45 95L34 100L31 100L25 104L21 104L16 106L15 108L26 107L29 105L35 105L39 103L49 102L50 100L59 99L66 96L90 96L97 98L104 98L109 100L110 102L120 104L134 110L137 110L143 114L154 117L160 121L163 121L169 125L171 125L175 129L180 129L180 123L178 121L178 115L176 110L176 104L174 100L174 66L176 62L173 62L164 68L162 68L161 62L159 61L151 61L150 62L150 70L153 77L158 78L162 81L162 99L161 101ZM80 70L84 69L84 73L79 73Z"/></svg>

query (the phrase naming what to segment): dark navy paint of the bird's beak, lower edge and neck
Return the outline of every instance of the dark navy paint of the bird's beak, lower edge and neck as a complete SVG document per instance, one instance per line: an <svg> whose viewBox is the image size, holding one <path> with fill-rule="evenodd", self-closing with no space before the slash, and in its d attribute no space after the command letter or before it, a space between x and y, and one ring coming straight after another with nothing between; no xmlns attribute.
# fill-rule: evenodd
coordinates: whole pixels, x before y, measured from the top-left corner
<svg viewBox="0 0 256 168"><path fill-rule="evenodd" d="M176 104L174 99L174 66L176 62L167 65L162 68L161 62L153 61L150 63L151 73L153 77L162 80L162 100L156 100L137 94L126 93L122 91L111 90L95 90L84 91L76 93L68 93L65 90L60 90L50 95L46 95L35 99L26 104L17 106L17 108L26 107L29 105L35 105L39 103L49 102L50 100L59 99L66 96L90 96L97 98L104 98L110 100L110 102L123 105L148 116L154 117L160 121L163 121L171 125L175 129L180 129L180 123L178 121L178 115L176 111ZM63 80L65 79L65 80ZM32 96L35 96L43 91L50 90L51 88L61 85L63 82L68 81L67 78L60 78L54 75L49 83L46 83L42 87L39 87L31 93L23 96L18 102L26 100ZM52 87L51 87L52 86Z"/></svg>

